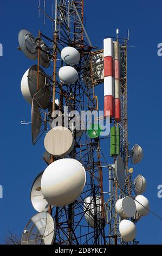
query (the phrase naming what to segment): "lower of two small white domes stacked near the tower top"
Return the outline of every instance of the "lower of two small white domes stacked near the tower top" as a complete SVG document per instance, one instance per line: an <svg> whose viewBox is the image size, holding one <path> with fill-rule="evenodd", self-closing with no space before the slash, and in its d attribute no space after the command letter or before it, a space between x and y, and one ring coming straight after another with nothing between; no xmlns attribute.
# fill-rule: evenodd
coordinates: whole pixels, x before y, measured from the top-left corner
<svg viewBox="0 0 162 256"><path fill-rule="evenodd" d="M62 83L75 83L78 79L76 69L72 66L62 66L59 70L59 78Z"/></svg>

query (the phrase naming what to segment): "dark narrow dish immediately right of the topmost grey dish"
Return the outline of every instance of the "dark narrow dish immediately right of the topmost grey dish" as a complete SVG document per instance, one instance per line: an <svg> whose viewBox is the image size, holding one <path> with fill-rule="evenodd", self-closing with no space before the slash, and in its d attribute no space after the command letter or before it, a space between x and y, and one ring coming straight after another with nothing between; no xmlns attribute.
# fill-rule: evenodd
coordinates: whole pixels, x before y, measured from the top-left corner
<svg viewBox="0 0 162 256"><path fill-rule="evenodd" d="M43 66L43 68L49 68L50 65L50 58L49 58L49 50L45 42L41 41L41 49L43 51L40 51L40 64Z"/></svg>

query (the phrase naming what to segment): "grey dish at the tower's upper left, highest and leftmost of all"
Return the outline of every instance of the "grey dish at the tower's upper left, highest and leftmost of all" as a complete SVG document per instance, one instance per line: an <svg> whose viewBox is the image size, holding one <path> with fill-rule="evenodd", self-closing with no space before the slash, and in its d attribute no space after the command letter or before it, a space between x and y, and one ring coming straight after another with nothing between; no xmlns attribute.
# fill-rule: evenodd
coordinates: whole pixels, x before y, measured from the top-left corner
<svg viewBox="0 0 162 256"><path fill-rule="evenodd" d="M22 29L18 33L18 42L25 56L29 59L37 58L37 43L34 36L29 31Z"/></svg>

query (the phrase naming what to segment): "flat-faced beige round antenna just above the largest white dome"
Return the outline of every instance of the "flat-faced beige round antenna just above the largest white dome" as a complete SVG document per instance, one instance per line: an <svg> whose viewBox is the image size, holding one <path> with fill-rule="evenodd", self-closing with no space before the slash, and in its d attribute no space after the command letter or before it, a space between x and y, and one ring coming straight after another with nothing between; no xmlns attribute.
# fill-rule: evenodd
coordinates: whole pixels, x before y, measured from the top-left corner
<svg viewBox="0 0 162 256"><path fill-rule="evenodd" d="M63 157L74 148L74 137L66 127L56 126L44 138L44 148L53 156Z"/></svg>

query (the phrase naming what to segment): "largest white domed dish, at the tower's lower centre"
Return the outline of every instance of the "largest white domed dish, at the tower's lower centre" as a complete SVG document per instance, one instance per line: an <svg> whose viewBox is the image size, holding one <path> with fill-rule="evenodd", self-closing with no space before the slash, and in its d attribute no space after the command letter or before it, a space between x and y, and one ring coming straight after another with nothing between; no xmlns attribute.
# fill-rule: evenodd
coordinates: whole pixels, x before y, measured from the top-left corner
<svg viewBox="0 0 162 256"><path fill-rule="evenodd" d="M63 206L74 202L80 196L85 183L85 168L79 161L60 159L44 170L41 188L49 204Z"/></svg>

